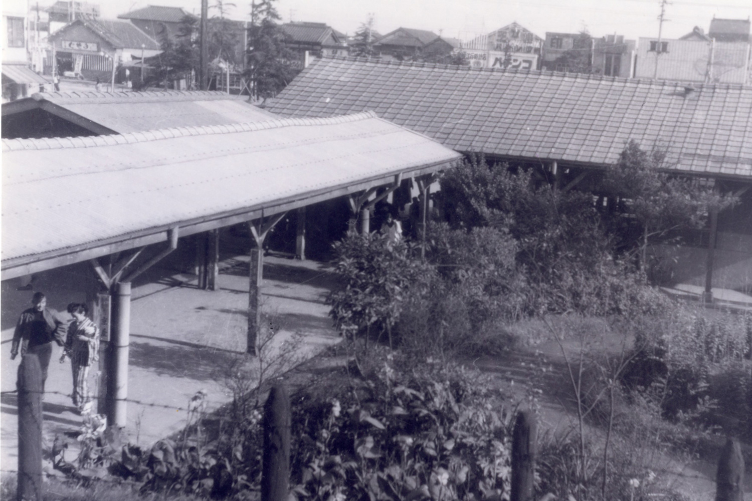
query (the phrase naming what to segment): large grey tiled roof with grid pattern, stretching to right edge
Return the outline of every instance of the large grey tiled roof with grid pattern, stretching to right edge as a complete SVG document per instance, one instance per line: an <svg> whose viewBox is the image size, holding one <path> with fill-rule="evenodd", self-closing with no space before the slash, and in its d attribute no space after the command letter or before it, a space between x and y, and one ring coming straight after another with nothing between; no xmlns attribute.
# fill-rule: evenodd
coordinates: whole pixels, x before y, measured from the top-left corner
<svg viewBox="0 0 752 501"><path fill-rule="evenodd" d="M665 146L673 168L752 177L752 87L324 58L267 109L374 110L461 152L607 166L625 143Z"/></svg>

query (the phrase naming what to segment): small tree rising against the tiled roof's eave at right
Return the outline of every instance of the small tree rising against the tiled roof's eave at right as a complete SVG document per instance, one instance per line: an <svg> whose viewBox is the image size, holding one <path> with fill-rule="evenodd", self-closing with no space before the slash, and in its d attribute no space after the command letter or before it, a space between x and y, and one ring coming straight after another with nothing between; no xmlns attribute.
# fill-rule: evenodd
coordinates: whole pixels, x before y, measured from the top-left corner
<svg viewBox="0 0 752 501"><path fill-rule="evenodd" d="M681 228L702 228L711 210L720 212L738 202L737 198L720 195L700 180L666 174L667 168L664 149L644 150L635 140L630 140L617 164L606 171L602 183L605 195L618 201L620 221L623 221L622 215L628 213L639 225L641 237L631 246L640 252L642 269L651 237ZM614 226L621 237L626 234L624 225Z"/></svg>

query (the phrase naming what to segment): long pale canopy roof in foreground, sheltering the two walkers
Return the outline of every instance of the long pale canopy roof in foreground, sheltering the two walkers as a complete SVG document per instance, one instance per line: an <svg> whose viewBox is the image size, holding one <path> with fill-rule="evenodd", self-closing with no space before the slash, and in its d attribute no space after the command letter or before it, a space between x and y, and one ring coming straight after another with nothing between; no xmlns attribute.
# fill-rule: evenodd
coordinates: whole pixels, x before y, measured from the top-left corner
<svg viewBox="0 0 752 501"><path fill-rule="evenodd" d="M2 279L432 174L460 155L372 112L2 140Z"/></svg>

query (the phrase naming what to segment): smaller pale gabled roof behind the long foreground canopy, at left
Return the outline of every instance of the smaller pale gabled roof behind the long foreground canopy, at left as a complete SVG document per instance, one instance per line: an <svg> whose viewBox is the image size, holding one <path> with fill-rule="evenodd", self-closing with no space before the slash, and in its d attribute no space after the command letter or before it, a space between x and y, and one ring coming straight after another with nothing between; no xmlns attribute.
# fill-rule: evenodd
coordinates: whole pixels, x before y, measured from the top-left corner
<svg viewBox="0 0 752 501"><path fill-rule="evenodd" d="M277 118L274 113L250 104L247 96L213 91L40 92L3 104L3 116L30 106L41 107L96 134Z"/></svg>

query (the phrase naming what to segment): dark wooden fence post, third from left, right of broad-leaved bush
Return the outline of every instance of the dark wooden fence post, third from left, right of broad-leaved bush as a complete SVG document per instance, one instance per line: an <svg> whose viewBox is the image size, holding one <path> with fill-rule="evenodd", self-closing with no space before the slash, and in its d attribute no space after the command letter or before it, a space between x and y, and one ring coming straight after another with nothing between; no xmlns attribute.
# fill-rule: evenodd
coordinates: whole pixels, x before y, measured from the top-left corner
<svg viewBox="0 0 752 501"><path fill-rule="evenodd" d="M512 433L511 501L530 501L535 481L535 415L519 412Z"/></svg>

